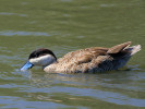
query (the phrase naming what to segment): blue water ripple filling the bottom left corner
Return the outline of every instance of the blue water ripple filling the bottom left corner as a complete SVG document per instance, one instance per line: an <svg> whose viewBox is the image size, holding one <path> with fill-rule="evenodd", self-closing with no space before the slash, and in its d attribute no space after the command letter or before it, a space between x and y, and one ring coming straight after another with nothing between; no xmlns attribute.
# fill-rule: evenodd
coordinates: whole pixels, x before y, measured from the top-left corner
<svg viewBox="0 0 145 109"><path fill-rule="evenodd" d="M1 104L3 104L2 108L19 108L19 109L45 109L46 107L49 107L51 109L57 109L58 107L61 108L72 108L71 106L64 106L57 102L51 101L26 101L25 99L21 99L20 97L10 97L10 96L0 96L2 100Z"/></svg>

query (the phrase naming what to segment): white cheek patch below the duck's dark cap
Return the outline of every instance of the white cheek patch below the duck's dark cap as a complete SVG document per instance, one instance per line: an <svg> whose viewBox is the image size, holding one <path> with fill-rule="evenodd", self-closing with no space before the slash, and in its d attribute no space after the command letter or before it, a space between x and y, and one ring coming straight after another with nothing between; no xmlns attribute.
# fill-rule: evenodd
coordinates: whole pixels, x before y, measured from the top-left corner
<svg viewBox="0 0 145 109"><path fill-rule="evenodd" d="M29 62L34 65L48 65L55 61L55 58L51 55L41 56L38 58L31 59Z"/></svg>

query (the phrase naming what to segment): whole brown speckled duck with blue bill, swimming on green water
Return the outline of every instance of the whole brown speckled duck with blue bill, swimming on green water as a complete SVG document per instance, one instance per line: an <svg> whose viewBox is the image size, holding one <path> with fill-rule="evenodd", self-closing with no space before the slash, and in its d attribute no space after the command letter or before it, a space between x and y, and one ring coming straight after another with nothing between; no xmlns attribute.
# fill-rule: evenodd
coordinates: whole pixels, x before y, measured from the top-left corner
<svg viewBox="0 0 145 109"><path fill-rule="evenodd" d="M46 48L34 50L21 71L40 65L47 73L96 73L123 68L130 58L141 50L141 45L130 47L131 41L110 48L90 47L78 49L57 59L55 53Z"/></svg>

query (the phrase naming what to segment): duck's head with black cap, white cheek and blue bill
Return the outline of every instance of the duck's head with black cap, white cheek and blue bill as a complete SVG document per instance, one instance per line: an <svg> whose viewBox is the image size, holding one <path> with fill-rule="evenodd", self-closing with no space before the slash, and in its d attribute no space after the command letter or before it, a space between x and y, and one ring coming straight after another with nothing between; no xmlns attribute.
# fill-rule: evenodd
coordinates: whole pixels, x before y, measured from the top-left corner
<svg viewBox="0 0 145 109"><path fill-rule="evenodd" d="M49 49L37 49L33 51L29 57L28 61L21 68L21 71L26 71L34 65L47 66L57 61L55 53Z"/></svg>

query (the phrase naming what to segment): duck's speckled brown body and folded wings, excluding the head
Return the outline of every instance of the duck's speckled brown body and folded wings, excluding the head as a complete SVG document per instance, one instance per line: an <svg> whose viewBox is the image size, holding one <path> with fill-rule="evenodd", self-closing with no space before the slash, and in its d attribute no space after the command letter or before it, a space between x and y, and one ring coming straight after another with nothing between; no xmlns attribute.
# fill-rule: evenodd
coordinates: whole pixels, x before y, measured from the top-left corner
<svg viewBox="0 0 145 109"><path fill-rule="evenodd" d="M69 52L44 70L51 73L93 73L118 70L125 65L132 50L136 47L128 49L130 45L129 41L112 48L92 47Z"/></svg>

